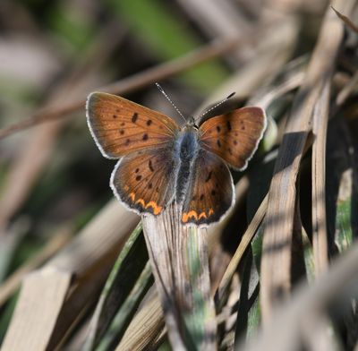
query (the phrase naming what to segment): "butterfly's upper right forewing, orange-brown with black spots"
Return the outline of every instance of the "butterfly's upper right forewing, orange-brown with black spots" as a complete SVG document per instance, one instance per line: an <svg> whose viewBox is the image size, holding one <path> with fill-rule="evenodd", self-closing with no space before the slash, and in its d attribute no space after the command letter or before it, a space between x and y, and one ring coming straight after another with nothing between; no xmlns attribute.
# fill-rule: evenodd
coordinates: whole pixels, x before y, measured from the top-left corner
<svg viewBox="0 0 358 351"><path fill-rule="evenodd" d="M266 128L260 107L243 107L215 116L200 125L200 145L231 167L243 170L257 149Z"/></svg>

